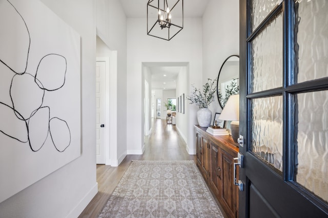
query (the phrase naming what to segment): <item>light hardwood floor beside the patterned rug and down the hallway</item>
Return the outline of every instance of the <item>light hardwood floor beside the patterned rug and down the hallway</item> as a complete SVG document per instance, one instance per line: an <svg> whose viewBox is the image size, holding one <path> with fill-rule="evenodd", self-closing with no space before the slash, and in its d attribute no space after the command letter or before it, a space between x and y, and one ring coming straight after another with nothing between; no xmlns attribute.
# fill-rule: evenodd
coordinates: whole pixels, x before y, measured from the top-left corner
<svg viewBox="0 0 328 218"><path fill-rule="evenodd" d="M152 133L145 138L144 154L128 155L117 167L97 164L98 193L79 217L97 217L131 160L196 161L196 155L187 153L186 143L178 134L175 125L167 125L166 119L152 119L152 122Z"/></svg>

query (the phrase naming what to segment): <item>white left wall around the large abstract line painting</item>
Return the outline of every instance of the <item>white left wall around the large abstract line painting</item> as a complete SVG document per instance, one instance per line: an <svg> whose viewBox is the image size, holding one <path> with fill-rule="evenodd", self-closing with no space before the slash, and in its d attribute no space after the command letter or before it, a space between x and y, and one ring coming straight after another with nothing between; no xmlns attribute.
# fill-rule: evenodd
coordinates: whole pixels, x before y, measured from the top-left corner
<svg viewBox="0 0 328 218"><path fill-rule="evenodd" d="M90 0L42 2L81 36L81 156L2 202L0 217L77 217L97 192L95 4Z"/></svg>

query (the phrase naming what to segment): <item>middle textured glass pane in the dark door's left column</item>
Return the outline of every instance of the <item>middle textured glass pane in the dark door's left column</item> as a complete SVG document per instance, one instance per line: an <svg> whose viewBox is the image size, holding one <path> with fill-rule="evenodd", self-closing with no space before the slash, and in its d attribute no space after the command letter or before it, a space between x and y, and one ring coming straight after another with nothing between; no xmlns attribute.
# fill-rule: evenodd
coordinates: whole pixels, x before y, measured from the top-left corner
<svg viewBox="0 0 328 218"><path fill-rule="evenodd" d="M282 14L252 41L251 91L282 87Z"/></svg>

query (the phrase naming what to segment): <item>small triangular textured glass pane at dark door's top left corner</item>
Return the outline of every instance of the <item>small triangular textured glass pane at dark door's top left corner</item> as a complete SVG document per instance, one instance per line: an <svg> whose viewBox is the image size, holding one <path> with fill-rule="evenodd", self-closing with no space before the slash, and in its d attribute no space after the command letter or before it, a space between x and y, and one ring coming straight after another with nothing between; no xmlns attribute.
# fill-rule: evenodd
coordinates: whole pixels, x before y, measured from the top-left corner
<svg viewBox="0 0 328 218"><path fill-rule="evenodd" d="M253 0L251 7L252 31L267 17L282 0Z"/></svg>

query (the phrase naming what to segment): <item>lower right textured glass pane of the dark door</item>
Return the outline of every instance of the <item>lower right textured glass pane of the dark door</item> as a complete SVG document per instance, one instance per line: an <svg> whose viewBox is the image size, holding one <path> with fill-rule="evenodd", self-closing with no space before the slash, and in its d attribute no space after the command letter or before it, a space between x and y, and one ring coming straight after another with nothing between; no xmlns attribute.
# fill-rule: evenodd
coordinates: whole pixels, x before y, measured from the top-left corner
<svg viewBox="0 0 328 218"><path fill-rule="evenodd" d="M328 202L328 91L297 94L296 182Z"/></svg>

